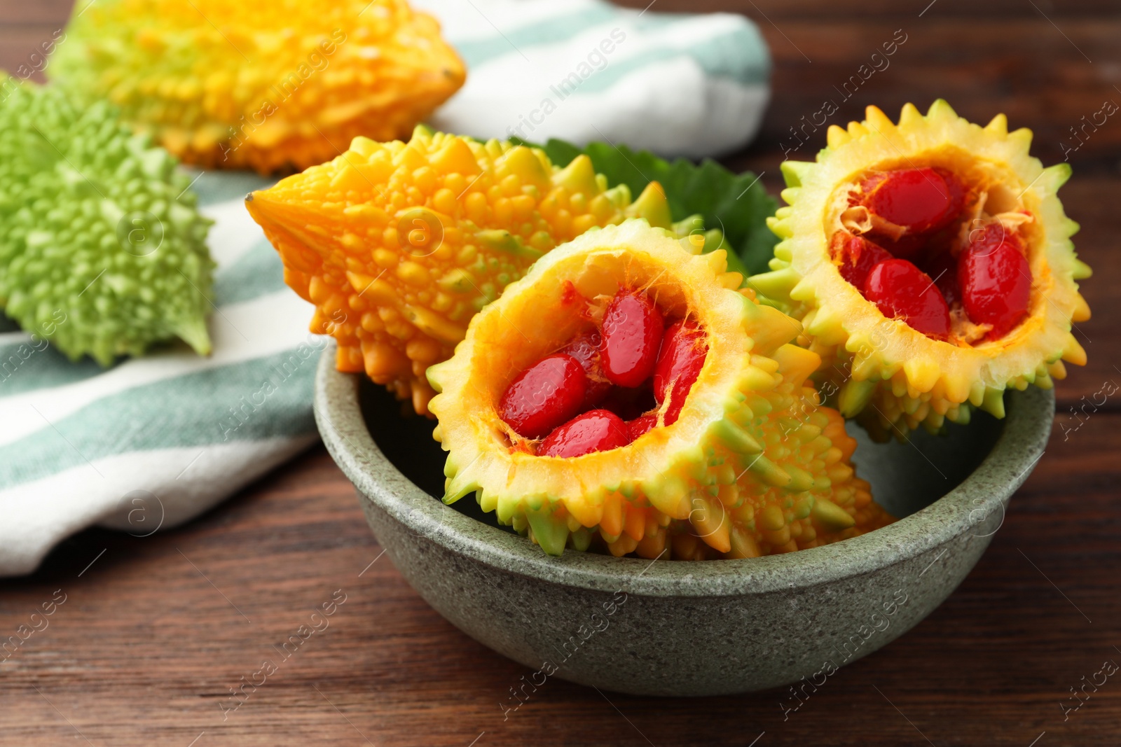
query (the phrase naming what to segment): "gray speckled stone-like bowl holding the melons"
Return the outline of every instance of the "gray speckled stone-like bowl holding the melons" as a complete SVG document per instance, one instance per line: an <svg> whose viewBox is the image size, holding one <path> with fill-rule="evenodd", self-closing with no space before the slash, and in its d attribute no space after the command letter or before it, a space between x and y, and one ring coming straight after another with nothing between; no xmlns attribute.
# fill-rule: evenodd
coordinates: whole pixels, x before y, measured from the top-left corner
<svg viewBox="0 0 1121 747"><path fill-rule="evenodd" d="M904 519L852 540L751 560L549 558L488 523L474 501L436 499L443 452L432 421L402 417L381 387L339 373L334 360L330 346L315 415L370 527L439 614L534 670L513 683L526 694L549 676L657 695L804 676L821 684L908 631L965 578L1043 454L1055 409L1051 392L1029 389L1008 395L1003 421L976 414L948 437L919 433L910 445L865 439L859 474Z"/></svg>

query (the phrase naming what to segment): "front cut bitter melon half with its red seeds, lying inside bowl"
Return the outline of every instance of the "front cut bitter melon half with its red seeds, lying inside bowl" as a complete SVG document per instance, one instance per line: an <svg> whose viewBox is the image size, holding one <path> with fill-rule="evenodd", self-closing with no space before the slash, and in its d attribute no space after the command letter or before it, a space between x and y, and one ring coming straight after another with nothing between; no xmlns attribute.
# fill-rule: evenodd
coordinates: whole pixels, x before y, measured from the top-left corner
<svg viewBox="0 0 1121 747"><path fill-rule="evenodd" d="M485 306L428 368L444 499L475 493L553 555L750 558L891 521L800 326L700 250L641 220L592 230Z"/></svg>

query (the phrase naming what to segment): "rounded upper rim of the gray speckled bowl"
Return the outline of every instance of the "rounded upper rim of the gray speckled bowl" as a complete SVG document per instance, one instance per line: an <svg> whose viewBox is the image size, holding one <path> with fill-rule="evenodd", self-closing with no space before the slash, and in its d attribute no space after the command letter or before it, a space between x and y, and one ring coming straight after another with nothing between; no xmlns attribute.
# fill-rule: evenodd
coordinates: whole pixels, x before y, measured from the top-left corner
<svg viewBox="0 0 1121 747"><path fill-rule="evenodd" d="M957 487L909 516L842 542L787 554L687 563L659 563L664 557L651 561L571 550L553 558L524 536L444 505L401 474L367 429L359 402L363 374L337 371L335 347L334 340L325 347L316 370L315 419L327 450L362 497L413 534L483 566L606 592L723 597L790 591L921 555L961 536L993 512L1003 512L1043 456L1055 412L1051 390L1012 390L1006 401L1004 428L995 445ZM980 536L988 541L991 534Z"/></svg>

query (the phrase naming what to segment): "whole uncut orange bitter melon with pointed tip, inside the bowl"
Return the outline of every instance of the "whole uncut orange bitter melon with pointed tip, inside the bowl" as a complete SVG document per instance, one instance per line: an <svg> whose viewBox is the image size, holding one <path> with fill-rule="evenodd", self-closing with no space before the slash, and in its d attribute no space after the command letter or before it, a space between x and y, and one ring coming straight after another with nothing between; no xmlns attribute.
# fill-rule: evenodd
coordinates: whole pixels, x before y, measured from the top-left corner
<svg viewBox="0 0 1121 747"><path fill-rule="evenodd" d="M586 156L560 169L537 149L425 128L407 143L355 138L245 207L315 305L312 332L339 342L339 370L364 371L418 413L427 367L544 252L629 215L669 225L657 184L631 203Z"/></svg>

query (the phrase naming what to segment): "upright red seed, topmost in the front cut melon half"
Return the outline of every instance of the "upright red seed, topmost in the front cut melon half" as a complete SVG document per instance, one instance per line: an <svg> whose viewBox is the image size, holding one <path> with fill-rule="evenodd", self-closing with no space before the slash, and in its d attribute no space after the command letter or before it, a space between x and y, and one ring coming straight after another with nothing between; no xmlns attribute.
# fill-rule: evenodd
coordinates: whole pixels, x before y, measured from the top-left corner
<svg viewBox="0 0 1121 747"><path fill-rule="evenodd" d="M654 371L664 321L646 293L620 290L603 312L603 373L613 384L638 386Z"/></svg>

